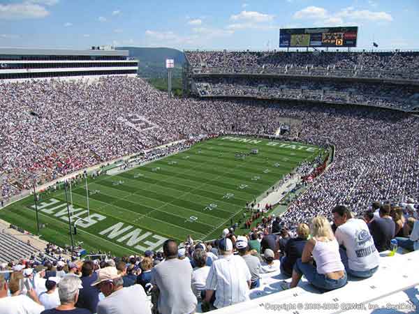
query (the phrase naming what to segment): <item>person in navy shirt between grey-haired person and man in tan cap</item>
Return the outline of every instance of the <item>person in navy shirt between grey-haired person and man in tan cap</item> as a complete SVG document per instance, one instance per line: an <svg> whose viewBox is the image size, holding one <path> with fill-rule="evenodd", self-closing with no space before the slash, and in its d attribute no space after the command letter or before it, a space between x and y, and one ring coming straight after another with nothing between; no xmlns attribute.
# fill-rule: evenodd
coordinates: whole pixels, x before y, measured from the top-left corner
<svg viewBox="0 0 419 314"><path fill-rule="evenodd" d="M78 308L87 308L91 313L96 313L99 301L99 292L91 284L96 281L98 274L94 271L94 263L88 260L82 264L82 286L78 301L75 304Z"/></svg>

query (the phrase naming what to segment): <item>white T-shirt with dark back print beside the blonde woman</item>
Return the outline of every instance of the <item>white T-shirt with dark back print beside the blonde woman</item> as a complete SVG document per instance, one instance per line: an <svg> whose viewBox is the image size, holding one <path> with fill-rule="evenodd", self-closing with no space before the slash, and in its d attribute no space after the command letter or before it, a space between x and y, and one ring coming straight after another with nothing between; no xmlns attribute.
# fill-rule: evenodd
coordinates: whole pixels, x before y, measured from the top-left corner
<svg viewBox="0 0 419 314"><path fill-rule="evenodd" d="M351 218L339 225L335 232L339 245L346 248L348 267L353 271L367 271L377 267L380 255L376 251L367 223L362 219Z"/></svg>

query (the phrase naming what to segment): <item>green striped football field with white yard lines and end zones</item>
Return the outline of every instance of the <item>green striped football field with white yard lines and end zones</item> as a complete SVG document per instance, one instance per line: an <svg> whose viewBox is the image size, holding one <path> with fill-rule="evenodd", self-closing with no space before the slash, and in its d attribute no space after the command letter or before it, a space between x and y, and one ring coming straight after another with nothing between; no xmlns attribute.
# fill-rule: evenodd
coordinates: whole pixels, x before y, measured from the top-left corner
<svg viewBox="0 0 419 314"><path fill-rule="evenodd" d="M252 149L258 154L250 154ZM74 241L87 251L131 255L159 250L168 238L184 241L188 234L215 239L231 220L242 219L247 202L260 199L321 151L307 144L224 136L126 172L89 178L90 218L84 184L72 188L71 224L78 220ZM38 213L43 239L70 244L64 190L42 195ZM33 197L1 209L0 218L36 233Z"/></svg>

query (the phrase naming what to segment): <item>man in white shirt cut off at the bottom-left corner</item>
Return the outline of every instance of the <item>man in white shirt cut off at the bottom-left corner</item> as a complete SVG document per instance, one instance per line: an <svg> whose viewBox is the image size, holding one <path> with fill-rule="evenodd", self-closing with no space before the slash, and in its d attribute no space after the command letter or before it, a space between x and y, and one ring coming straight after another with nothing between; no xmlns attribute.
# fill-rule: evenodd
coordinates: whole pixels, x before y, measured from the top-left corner
<svg viewBox="0 0 419 314"><path fill-rule="evenodd" d="M29 290L27 297L19 294L16 297L7 296L8 285L3 275L0 274L0 313L1 314L40 314L44 311L35 290Z"/></svg>

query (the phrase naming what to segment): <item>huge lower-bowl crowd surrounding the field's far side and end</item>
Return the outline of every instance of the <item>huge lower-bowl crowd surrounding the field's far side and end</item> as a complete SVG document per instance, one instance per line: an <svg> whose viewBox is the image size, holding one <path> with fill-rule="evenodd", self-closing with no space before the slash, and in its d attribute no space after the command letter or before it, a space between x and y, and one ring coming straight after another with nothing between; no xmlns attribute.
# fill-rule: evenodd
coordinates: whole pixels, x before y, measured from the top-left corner
<svg viewBox="0 0 419 314"><path fill-rule="evenodd" d="M232 129L274 134L284 117L302 121L293 130L295 140L335 146L334 163L290 204L285 218L302 220L338 203L359 211L372 200L419 190L419 120L402 112L261 100L170 100L144 81L126 77L97 84L1 84L0 89L4 199L18 192L16 181L22 188L31 186L33 172L48 181L191 135ZM129 114L157 127L138 130L117 119Z"/></svg>

